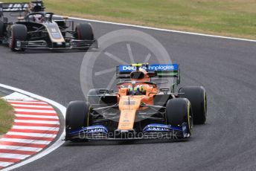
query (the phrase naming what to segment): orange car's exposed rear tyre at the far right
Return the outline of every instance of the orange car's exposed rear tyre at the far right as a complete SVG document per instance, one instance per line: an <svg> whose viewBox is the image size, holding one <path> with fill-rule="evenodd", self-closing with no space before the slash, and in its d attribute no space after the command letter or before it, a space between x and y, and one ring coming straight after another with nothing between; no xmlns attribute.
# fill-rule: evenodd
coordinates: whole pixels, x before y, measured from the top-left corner
<svg viewBox="0 0 256 171"><path fill-rule="evenodd" d="M204 124L207 115L207 98L202 86L185 86L179 89L179 97L185 97L191 102L193 123Z"/></svg>

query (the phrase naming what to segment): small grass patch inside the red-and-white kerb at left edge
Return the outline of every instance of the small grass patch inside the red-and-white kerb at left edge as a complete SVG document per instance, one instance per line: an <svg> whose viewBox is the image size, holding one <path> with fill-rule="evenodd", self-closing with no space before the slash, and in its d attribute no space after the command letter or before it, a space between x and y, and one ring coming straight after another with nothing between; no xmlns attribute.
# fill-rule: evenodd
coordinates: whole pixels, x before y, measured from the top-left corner
<svg viewBox="0 0 256 171"><path fill-rule="evenodd" d="M10 129L13 125L13 120L14 114L12 106L0 99L0 135L3 135Z"/></svg>

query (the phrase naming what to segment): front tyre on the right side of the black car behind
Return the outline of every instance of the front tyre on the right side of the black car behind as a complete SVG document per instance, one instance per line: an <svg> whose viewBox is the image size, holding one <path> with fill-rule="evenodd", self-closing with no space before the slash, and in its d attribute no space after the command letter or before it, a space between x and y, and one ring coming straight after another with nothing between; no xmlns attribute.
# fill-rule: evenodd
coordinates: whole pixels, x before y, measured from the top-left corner
<svg viewBox="0 0 256 171"><path fill-rule="evenodd" d="M75 30L75 38L80 40L93 40L95 39L92 25L89 23L80 23Z"/></svg>

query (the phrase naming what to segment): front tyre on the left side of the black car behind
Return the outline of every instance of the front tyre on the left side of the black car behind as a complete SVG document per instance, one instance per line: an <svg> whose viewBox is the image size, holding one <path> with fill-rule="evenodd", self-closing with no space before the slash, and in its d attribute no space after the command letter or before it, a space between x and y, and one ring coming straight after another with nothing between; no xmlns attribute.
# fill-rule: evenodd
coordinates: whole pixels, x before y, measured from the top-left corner
<svg viewBox="0 0 256 171"><path fill-rule="evenodd" d="M11 51L24 51L23 48L16 48L17 40L25 41L28 36L28 30L25 25L12 25L11 36L10 36L10 50Z"/></svg>

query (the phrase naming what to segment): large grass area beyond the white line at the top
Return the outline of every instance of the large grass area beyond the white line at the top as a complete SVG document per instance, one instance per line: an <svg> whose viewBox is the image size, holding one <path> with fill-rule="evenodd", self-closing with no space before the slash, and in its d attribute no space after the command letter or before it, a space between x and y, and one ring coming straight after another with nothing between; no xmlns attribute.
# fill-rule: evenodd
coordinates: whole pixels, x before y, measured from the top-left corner
<svg viewBox="0 0 256 171"><path fill-rule="evenodd" d="M255 0L45 0L44 2L48 11L65 16L256 39Z"/></svg>

